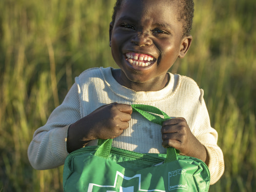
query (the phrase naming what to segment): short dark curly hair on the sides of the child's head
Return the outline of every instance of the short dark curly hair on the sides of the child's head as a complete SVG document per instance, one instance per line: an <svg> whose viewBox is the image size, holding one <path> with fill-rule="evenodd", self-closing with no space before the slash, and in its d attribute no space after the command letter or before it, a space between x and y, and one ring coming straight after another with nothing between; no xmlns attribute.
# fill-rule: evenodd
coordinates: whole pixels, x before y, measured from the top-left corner
<svg viewBox="0 0 256 192"><path fill-rule="evenodd" d="M173 0L174 1L174 0ZM183 36L190 35L192 29L192 23L194 18L194 1L193 0L176 0L178 5L178 11L180 12L177 19L183 23ZM117 0L114 6L112 23L115 23L116 15L121 7L122 0Z"/></svg>

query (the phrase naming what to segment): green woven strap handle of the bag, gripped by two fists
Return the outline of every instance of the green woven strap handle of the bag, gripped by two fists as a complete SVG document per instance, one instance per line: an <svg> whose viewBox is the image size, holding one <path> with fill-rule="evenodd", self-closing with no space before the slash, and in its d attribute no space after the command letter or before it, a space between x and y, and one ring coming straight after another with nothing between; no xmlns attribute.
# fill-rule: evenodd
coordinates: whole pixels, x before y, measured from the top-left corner
<svg viewBox="0 0 256 192"><path fill-rule="evenodd" d="M133 104L131 105L133 108L133 112L138 112L142 116L144 116L149 121L156 123L158 125L162 125L162 123L167 120L174 117L169 117L166 113L162 112L157 107L153 107L150 105L143 105L143 104ZM163 115L163 118L159 115ZM108 156L110 154L111 145L112 145L113 139L98 139L98 145L99 148L97 149L95 155L108 159ZM164 163L169 163L172 161L177 160L177 150L173 147L167 148L167 155L166 159L164 160Z"/></svg>

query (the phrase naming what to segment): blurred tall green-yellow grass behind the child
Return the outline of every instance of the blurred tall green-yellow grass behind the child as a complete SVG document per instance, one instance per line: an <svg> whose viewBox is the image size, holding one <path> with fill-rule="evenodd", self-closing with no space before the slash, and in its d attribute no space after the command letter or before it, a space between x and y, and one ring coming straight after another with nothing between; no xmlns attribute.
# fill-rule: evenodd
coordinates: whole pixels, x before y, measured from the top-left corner
<svg viewBox="0 0 256 192"><path fill-rule="evenodd" d="M0 1L0 192L61 192L63 167L36 171L34 131L74 77L113 66L108 26L115 0ZM204 89L225 173L210 192L256 189L256 1L195 0L193 43L171 68Z"/></svg>

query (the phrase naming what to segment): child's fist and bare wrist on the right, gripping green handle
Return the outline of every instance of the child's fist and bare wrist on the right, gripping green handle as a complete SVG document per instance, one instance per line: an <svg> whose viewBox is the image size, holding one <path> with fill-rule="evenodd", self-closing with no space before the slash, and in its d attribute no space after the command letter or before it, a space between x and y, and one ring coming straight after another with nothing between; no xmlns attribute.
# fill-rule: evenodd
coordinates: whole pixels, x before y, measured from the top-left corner
<svg viewBox="0 0 256 192"><path fill-rule="evenodd" d="M205 147L192 134L187 121L183 117L168 119L162 124L162 146L174 147L180 154L207 161Z"/></svg>

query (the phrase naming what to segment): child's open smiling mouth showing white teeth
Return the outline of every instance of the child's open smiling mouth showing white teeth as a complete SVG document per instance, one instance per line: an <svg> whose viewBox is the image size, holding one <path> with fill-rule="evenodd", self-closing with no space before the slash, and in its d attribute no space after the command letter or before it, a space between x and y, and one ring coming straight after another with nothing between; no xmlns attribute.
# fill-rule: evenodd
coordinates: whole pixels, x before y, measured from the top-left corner
<svg viewBox="0 0 256 192"><path fill-rule="evenodd" d="M125 56L126 60L135 66L147 67L154 63L154 58L145 54L126 53Z"/></svg>

